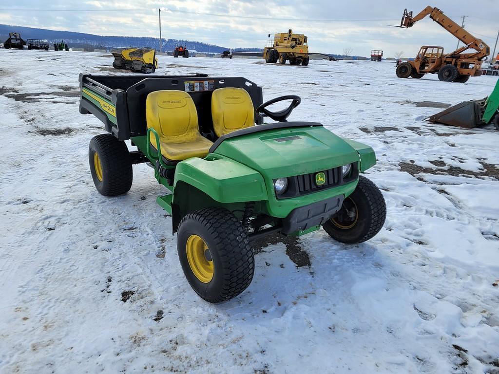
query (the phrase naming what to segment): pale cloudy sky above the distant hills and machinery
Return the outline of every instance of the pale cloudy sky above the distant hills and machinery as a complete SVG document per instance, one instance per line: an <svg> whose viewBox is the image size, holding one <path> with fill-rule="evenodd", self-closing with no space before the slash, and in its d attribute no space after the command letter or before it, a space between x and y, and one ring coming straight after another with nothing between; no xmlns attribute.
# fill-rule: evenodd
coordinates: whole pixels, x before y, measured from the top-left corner
<svg viewBox="0 0 499 374"><path fill-rule="evenodd" d="M419 0L0 0L0 23L100 35L159 37L158 8L161 8L164 38L198 40L227 47L263 47L268 33L292 28L307 35L310 51L316 52L341 54L349 47L354 55L367 56L371 49L383 49L386 57L397 51L404 51L404 56L415 56L422 44L441 45L449 52L454 50L457 39L429 17L410 29L388 27L400 24L404 7L417 14L428 4L439 7L458 23L462 15L468 15L465 28L489 44L492 53L499 29L499 0L431 3Z"/></svg>

